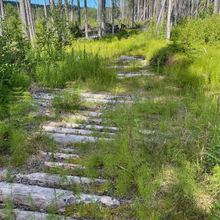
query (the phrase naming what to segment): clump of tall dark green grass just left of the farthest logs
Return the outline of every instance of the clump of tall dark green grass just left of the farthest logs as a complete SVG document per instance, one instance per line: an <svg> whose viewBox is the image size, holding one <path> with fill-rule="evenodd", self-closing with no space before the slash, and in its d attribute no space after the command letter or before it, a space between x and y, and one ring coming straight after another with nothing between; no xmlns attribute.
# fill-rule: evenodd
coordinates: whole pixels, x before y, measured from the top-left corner
<svg viewBox="0 0 220 220"><path fill-rule="evenodd" d="M85 51L63 54L63 61L51 64L45 61L37 67L35 79L43 86L63 88L68 81L88 82L91 86L111 85L116 80L115 72L104 68L104 60L98 54Z"/></svg>

